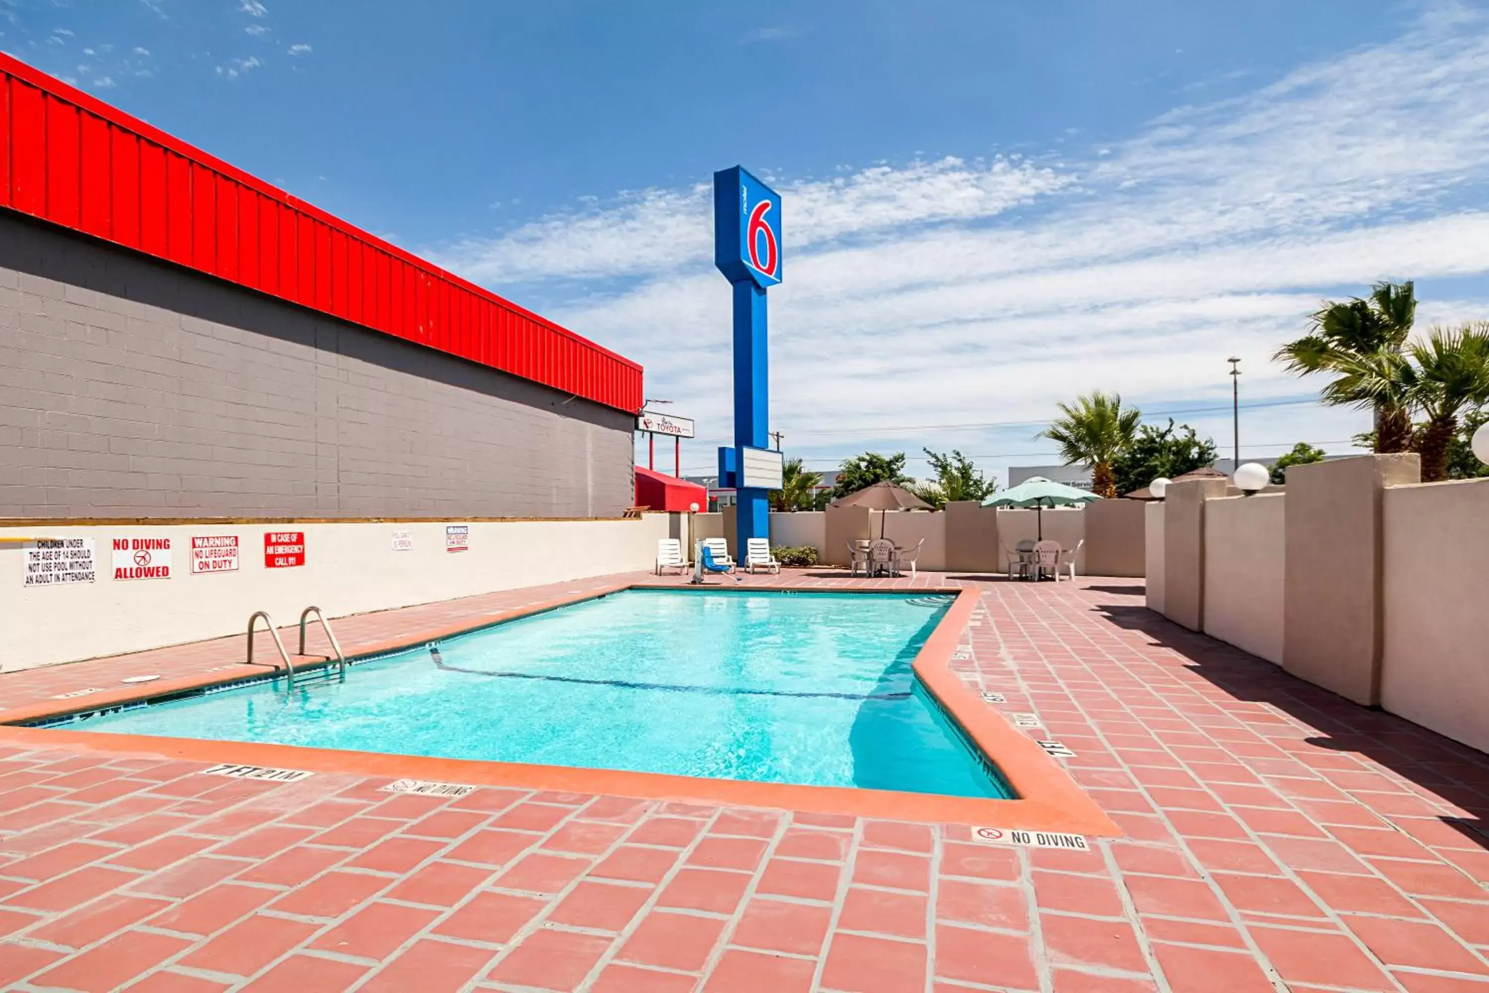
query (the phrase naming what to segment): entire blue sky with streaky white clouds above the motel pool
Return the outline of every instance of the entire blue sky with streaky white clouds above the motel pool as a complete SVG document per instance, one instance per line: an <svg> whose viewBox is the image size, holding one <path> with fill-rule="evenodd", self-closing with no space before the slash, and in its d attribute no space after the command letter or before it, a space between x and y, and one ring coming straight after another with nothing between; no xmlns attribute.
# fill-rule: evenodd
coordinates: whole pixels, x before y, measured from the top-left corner
<svg viewBox="0 0 1489 993"><path fill-rule="evenodd" d="M1345 451L1365 417L1267 360L1321 296L1489 317L1483 3L0 0L0 48L643 362L685 467L731 433L734 162L786 197L813 467L1047 462L1090 389L1228 448L1230 354L1243 456Z"/></svg>

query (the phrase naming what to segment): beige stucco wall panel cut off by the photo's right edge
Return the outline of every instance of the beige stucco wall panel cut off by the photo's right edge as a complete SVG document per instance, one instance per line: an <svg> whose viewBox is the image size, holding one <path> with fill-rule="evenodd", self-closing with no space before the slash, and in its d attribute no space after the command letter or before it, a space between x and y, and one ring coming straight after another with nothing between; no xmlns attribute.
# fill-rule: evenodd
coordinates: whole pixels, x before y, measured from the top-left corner
<svg viewBox="0 0 1489 993"><path fill-rule="evenodd" d="M1382 517L1380 704L1489 752L1489 479L1389 488Z"/></svg>

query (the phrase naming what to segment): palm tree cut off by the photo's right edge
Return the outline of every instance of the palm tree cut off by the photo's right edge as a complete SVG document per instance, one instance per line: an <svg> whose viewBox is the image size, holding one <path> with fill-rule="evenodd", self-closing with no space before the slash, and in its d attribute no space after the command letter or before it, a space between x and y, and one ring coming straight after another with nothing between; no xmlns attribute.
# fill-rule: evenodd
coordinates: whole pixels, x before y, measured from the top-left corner
<svg viewBox="0 0 1489 993"><path fill-rule="evenodd" d="M1447 478L1459 412L1489 403L1489 322L1432 328L1426 341L1410 344L1407 354L1407 396L1426 414L1418 436L1422 481L1440 482Z"/></svg>

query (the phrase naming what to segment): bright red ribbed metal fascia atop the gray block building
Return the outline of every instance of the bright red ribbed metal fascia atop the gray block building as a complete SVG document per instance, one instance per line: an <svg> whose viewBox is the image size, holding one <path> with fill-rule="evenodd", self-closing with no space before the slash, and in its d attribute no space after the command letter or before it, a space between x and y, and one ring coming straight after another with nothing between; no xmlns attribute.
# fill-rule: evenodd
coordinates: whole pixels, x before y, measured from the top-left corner
<svg viewBox="0 0 1489 993"><path fill-rule="evenodd" d="M66 112L43 98L27 101L34 103L25 110L34 119L31 131L22 132L12 80L71 106L77 131L63 128L49 140L51 116ZM116 137L107 125L127 137ZM155 146L158 153L140 144L137 156L118 155L130 138ZM40 146L42 155L18 155L18 146ZM22 164L27 174L18 176ZM219 195L217 182L198 185L200 170L207 173L204 179L228 180L284 213L246 204L237 192ZM18 188L30 189L28 195L16 197ZM121 197L134 199L121 204ZM106 207L100 198L107 199ZM639 363L3 52L0 205L606 406L642 406ZM137 216L121 216L135 213L134 207ZM249 217L255 217L252 234L243 225Z"/></svg>

